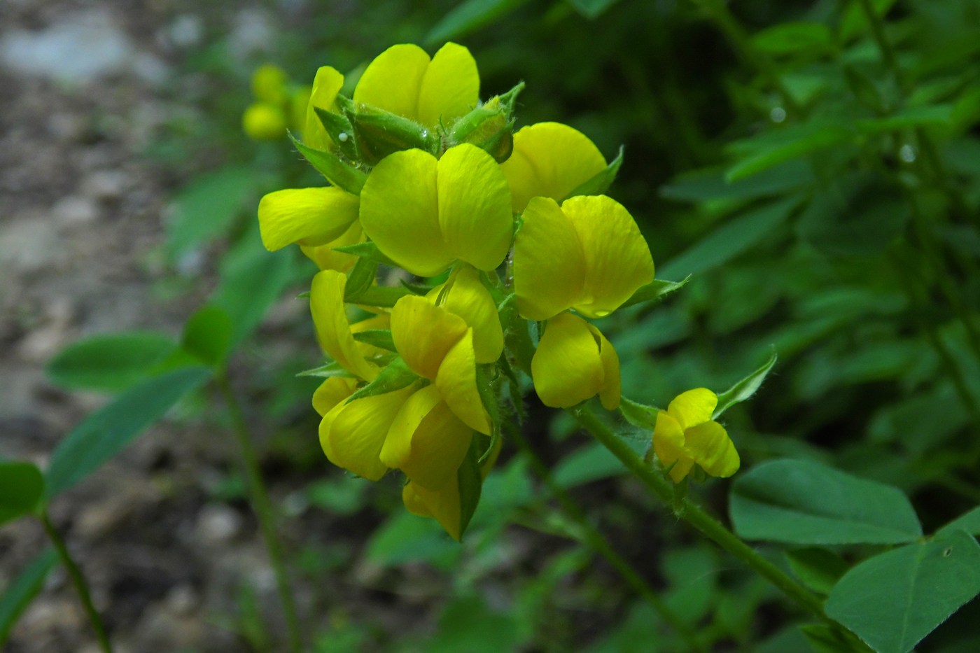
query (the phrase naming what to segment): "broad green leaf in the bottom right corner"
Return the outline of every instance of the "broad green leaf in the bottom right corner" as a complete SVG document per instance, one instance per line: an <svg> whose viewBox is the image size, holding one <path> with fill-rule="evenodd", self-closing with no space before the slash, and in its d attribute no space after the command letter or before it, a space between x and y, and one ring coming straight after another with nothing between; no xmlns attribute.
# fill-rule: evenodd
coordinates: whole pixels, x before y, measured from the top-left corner
<svg viewBox="0 0 980 653"><path fill-rule="evenodd" d="M978 593L980 545L956 530L860 563L825 610L878 653L907 653Z"/></svg>

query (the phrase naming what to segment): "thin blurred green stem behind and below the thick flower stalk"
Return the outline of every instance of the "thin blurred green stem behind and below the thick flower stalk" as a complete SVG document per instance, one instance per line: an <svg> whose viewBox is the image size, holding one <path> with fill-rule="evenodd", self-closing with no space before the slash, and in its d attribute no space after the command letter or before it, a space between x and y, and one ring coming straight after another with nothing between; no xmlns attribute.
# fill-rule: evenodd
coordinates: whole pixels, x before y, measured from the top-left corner
<svg viewBox="0 0 980 653"><path fill-rule="evenodd" d="M657 594L654 588L651 587L650 584L644 580L635 569L633 569L628 561L615 552L609 540L603 536L602 532L600 532L598 528L594 527L592 523L589 522L582 508L564 490L564 487L555 482L555 479L552 477L548 466L544 464L537 453L534 452L534 449L531 448L527 438L525 438L523 433L520 432L520 428L514 425L513 428L508 429L508 434L514 438L517 446L524 453L524 455L527 456L535 474L537 474L538 477L541 477L541 480L544 482L548 490L555 496L556 499L558 499L558 502L562 505L562 510L564 511L565 515L571 518L571 520L581 529L581 532L584 535L585 544L593 551L606 558L606 560L613 566L613 569L615 569L615 571L619 574L620 578L625 580L626 583L632 587L634 591L636 591L636 593L646 599L650 606L658 614L660 614L663 621L684 639L688 650L707 651L708 649L705 647L704 643L698 640L694 630L684 624L676 613L670 609L670 606L668 606Z"/></svg>

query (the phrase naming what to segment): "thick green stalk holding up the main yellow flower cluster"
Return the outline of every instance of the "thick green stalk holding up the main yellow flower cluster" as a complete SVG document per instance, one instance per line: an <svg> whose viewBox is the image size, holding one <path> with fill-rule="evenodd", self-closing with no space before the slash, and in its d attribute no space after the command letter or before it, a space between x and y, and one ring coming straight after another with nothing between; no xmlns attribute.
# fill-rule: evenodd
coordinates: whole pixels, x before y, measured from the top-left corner
<svg viewBox="0 0 980 653"><path fill-rule="evenodd" d="M673 486L670 482L653 468L646 465L630 449L629 445L616 437L613 429L597 418L587 406L571 409L569 412L578 420L578 423L582 427L585 427L597 440L602 442L626 466L626 469L646 485L648 489L652 490L668 504L673 505L679 503L679 509L675 510L675 512L680 519L703 532L721 548L747 564L762 578L767 579L797 605L821 622L837 627L836 622L832 621L823 613L822 602L809 589L760 556L760 554L736 536L735 533L722 526L720 522L711 517L701 506L689 498L685 497L677 502L674 497Z"/></svg>

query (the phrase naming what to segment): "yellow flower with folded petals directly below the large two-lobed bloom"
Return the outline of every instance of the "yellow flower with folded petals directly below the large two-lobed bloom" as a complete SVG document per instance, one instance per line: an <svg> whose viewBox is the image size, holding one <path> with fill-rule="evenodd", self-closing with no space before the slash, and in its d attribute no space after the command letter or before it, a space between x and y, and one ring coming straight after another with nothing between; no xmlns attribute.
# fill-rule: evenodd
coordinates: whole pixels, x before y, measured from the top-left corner
<svg viewBox="0 0 980 653"><path fill-rule="evenodd" d="M399 299L391 310L392 339L406 365L435 381L439 396L467 427L489 435L476 365L500 358L500 318L474 272L461 272L450 281L443 305L436 305L435 297Z"/></svg>

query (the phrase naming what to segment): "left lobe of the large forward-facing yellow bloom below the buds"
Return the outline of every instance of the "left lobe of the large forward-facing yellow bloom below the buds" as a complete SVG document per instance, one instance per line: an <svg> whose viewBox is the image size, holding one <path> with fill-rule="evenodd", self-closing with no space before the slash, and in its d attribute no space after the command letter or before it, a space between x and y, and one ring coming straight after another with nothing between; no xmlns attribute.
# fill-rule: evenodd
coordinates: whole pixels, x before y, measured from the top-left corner
<svg viewBox="0 0 980 653"><path fill-rule="evenodd" d="M361 225L385 256L413 275L435 276L456 259L439 225L435 157L404 150L385 157L361 191Z"/></svg>

